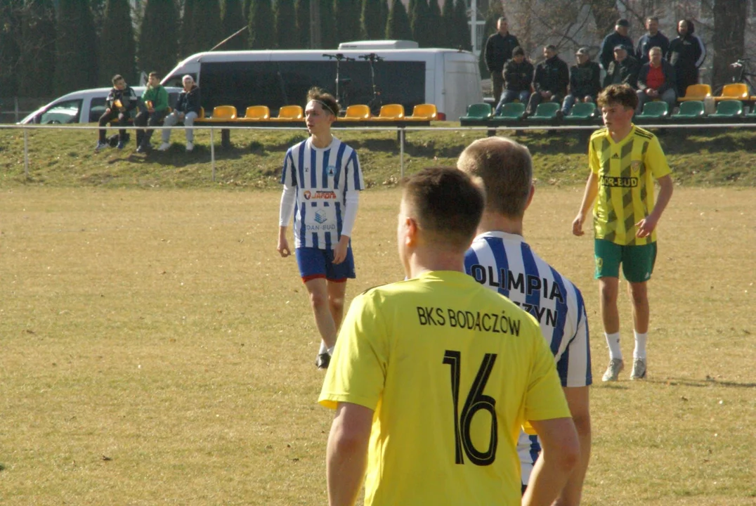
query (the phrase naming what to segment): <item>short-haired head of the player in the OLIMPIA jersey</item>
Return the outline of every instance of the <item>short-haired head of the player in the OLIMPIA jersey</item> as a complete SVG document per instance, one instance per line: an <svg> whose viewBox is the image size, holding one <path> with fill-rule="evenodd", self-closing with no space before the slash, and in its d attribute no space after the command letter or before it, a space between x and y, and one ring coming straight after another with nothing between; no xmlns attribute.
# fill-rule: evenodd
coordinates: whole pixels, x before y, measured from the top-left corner
<svg viewBox="0 0 756 506"><path fill-rule="evenodd" d="M533 182L528 148L505 137L479 139L460 154L457 168L485 186L485 209L522 218Z"/></svg>

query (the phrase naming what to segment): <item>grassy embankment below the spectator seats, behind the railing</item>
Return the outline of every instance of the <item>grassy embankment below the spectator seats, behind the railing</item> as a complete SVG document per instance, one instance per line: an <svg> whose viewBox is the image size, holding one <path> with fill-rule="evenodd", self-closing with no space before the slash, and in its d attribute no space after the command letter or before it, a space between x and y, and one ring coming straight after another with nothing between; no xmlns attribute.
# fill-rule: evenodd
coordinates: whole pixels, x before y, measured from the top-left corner
<svg viewBox="0 0 756 506"><path fill-rule="evenodd" d="M458 123L437 123L458 126ZM113 133L109 130L108 133ZM512 131L500 131L511 135ZM133 132L132 132L133 134ZM589 132L525 132L516 139L530 147L535 176L547 185L579 185L587 174ZM305 138L301 130L234 130L231 147L220 146L215 132L215 182L212 182L209 131L197 132L194 152L184 152L183 132L160 153L135 153L133 141L123 151L95 153L94 130L37 129L28 131L29 177L24 173L23 133L0 129L0 187L45 185L105 188L272 188L277 186L287 147ZM369 186L398 182L400 147L393 131L338 131L358 150ZM450 165L467 144L484 137L483 130L407 132L404 166L414 172L429 165ZM749 129L671 130L660 135L679 185L754 186L756 131ZM154 145L160 132L153 135Z"/></svg>

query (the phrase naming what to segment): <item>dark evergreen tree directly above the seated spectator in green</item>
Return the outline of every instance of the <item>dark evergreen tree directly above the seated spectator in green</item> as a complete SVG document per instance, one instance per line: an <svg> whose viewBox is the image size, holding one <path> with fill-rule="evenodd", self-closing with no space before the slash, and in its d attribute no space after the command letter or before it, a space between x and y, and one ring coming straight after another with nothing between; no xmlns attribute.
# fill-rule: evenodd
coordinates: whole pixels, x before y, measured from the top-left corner
<svg viewBox="0 0 756 506"><path fill-rule="evenodd" d="M178 9L173 0L147 0L139 30L138 69L156 72L162 79L175 67L178 41Z"/></svg>

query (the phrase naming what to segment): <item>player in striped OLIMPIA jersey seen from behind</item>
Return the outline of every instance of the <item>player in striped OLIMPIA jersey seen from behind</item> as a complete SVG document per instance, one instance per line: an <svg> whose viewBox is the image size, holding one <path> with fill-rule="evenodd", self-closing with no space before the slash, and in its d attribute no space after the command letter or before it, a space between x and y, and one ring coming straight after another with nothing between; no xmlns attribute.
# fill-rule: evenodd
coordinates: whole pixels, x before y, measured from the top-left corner
<svg viewBox="0 0 756 506"><path fill-rule="evenodd" d="M581 456L555 504L577 506L590 460L588 390L593 382L583 296L523 238L522 221L535 192L533 160L528 148L508 138L480 139L463 151L457 168L480 178L485 188L485 208L478 235L465 255L465 271L538 318L541 334L554 355L556 371L578 430ZM513 279L528 281L511 283ZM533 290L536 279L547 290ZM520 430L517 453L523 489L528 486L539 452L538 437Z"/></svg>

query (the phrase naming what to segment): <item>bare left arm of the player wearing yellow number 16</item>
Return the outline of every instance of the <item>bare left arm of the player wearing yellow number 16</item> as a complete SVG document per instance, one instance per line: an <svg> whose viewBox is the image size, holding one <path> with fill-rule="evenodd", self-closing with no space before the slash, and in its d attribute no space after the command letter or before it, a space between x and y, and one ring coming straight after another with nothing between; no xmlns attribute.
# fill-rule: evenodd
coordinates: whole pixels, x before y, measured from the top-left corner
<svg viewBox="0 0 756 506"><path fill-rule="evenodd" d="M367 467L367 442L373 410L351 402L339 402L326 452L328 504L353 506Z"/></svg>

